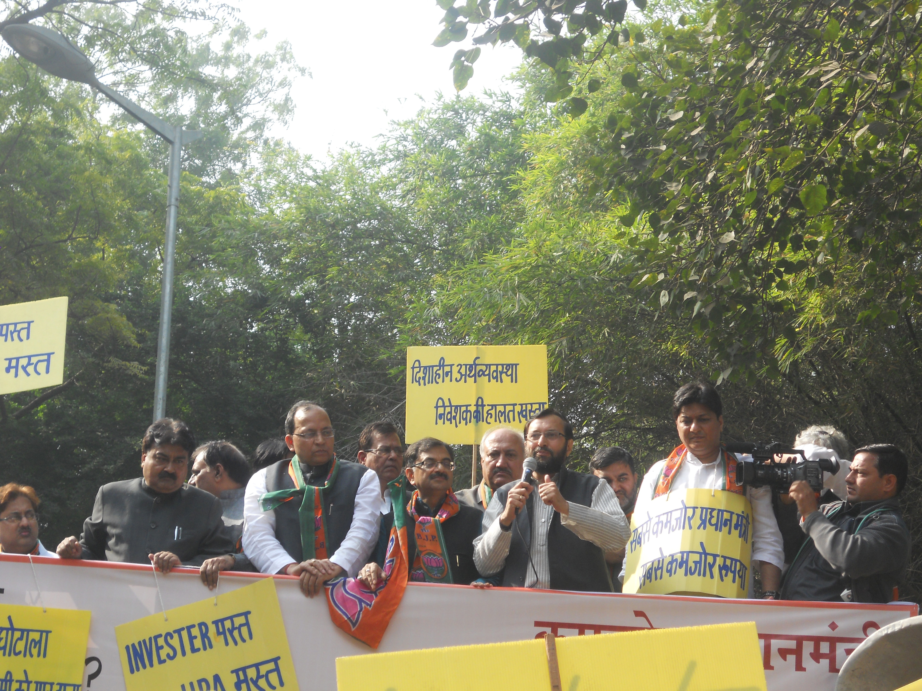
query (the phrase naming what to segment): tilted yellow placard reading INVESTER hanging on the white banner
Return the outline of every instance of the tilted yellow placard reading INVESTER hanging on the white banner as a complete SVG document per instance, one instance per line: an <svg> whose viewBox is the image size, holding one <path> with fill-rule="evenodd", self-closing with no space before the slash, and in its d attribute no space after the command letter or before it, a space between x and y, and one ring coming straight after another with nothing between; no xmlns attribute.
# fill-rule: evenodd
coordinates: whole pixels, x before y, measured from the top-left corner
<svg viewBox="0 0 922 691"><path fill-rule="evenodd" d="M127 691L298 688L272 579L115 627Z"/></svg>

